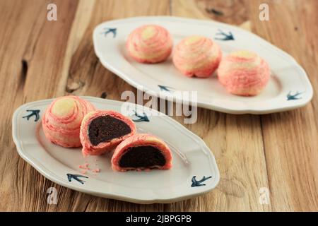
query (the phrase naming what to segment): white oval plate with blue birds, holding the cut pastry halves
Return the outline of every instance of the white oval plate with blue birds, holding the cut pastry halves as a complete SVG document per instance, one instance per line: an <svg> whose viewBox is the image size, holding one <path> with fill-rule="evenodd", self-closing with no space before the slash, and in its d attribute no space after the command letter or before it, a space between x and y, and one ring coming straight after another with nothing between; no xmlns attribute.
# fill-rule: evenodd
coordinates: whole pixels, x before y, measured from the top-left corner
<svg viewBox="0 0 318 226"><path fill-rule="evenodd" d="M122 112L124 102L97 97L83 98L98 109ZM30 102L16 109L12 119L13 141L25 161L57 184L95 196L134 203L179 201L205 194L218 184L220 175L211 150L201 138L165 114L139 105L136 105L137 116L134 110L126 111L136 121L139 132L152 133L170 146L172 169L114 172L110 164L111 154L90 156L84 160L81 148L62 148L47 141L42 131L41 119L51 102L52 100ZM90 164L91 169L100 168L100 173L88 171L87 174L82 174L83 169L78 166L85 162ZM206 180L200 182L203 177Z"/></svg>

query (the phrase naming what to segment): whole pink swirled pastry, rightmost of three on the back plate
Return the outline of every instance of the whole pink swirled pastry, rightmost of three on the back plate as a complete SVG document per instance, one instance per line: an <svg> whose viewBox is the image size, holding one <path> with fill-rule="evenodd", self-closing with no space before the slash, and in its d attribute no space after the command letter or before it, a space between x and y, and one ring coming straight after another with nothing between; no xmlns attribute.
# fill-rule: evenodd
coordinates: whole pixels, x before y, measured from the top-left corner
<svg viewBox="0 0 318 226"><path fill-rule="evenodd" d="M218 79L228 92L254 96L261 93L269 82L269 65L257 54L248 51L232 52L222 59Z"/></svg>

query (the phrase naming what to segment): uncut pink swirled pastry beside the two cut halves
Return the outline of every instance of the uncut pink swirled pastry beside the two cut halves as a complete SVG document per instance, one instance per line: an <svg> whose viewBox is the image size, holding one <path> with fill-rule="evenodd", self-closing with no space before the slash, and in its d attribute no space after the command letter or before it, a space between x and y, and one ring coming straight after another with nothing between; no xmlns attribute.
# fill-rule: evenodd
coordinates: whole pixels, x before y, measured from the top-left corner
<svg viewBox="0 0 318 226"><path fill-rule="evenodd" d="M83 117L95 110L90 102L75 96L59 97L42 118L42 128L49 141L66 148L81 147L79 137Z"/></svg>

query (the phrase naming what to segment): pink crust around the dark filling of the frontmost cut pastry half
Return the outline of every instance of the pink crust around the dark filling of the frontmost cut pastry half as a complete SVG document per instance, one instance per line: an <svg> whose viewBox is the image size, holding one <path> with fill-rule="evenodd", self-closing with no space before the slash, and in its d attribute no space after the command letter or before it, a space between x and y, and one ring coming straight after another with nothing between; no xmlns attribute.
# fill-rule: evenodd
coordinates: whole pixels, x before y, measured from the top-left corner
<svg viewBox="0 0 318 226"><path fill-rule="evenodd" d="M153 136L151 134L139 133L135 134L124 140L120 143L116 150L114 151L114 155L112 155L112 169L115 171L127 171L127 170L149 170L148 168L136 168L136 167L120 167L119 160L121 159L122 155L126 153L128 148L136 147L140 145L151 145L163 153L165 157L165 165L163 166L154 166L157 169L170 169L172 167L172 155L169 147L165 142L160 140L158 137Z"/></svg>

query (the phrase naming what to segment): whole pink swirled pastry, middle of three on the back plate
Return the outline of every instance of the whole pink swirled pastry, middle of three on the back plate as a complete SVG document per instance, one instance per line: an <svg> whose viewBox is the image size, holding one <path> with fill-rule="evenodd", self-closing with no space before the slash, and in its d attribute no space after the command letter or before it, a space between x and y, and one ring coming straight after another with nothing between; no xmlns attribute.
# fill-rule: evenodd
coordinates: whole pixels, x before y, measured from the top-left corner
<svg viewBox="0 0 318 226"><path fill-rule="evenodd" d="M190 36L175 47L173 63L185 76L205 78L216 71L221 57L220 47L211 39Z"/></svg>

